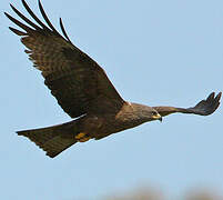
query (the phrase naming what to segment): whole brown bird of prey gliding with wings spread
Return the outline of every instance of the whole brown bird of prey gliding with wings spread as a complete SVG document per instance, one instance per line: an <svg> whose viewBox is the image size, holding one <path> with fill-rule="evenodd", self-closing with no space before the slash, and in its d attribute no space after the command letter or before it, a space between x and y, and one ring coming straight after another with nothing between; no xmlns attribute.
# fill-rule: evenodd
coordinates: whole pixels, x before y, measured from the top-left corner
<svg viewBox="0 0 223 200"><path fill-rule="evenodd" d="M216 96L212 92L191 108L148 107L123 100L104 70L71 42L61 19L62 34L50 22L40 0L39 9L45 22L24 0L21 1L32 21L10 4L27 24L4 12L21 28L9 29L21 37L26 52L41 71L45 86L64 112L73 118L67 123L17 132L33 141L47 156L53 158L77 142L100 140L144 122L162 121L162 117L175 112L209 116L220 106L221 92Z"/></svg>

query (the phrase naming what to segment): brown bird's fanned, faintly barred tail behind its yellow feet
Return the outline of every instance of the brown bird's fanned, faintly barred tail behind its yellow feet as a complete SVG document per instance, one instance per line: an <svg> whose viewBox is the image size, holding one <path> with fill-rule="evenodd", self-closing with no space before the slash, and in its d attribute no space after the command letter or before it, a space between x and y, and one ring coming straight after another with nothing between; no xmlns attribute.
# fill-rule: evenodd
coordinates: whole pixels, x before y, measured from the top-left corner
<svg viewBox="0 0 223 200"><path fill-rule="evenodd" d="M78 129L75 121L71 121L42 129L18 131L17 133L29 138L39 148L47 151L47 156L54 158L77 142L74 137Z"/></svg>

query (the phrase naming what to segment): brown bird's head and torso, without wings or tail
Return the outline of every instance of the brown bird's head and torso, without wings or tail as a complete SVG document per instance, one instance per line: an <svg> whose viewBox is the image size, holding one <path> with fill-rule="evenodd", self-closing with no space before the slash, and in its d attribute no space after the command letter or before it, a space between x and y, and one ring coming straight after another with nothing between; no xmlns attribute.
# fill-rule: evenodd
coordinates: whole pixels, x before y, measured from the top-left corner
<svg viewBox="0 0 223 200"><path fill-rule="evenodd" d="M111 112L84 116L79 119L79 124L82 128L81 132L99 140L112 133L140 126L144 122L161 119L160 114L152 119L151 110L152 108L143 104L125 102L123 103L122 109L116 113Z"/></svg>

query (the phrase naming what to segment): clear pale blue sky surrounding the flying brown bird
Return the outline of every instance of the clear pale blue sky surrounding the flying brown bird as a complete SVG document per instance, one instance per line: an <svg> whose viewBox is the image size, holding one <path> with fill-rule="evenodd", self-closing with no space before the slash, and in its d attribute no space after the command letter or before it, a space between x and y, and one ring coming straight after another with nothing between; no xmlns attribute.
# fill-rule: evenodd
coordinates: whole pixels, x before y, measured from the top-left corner
<svg viewBox="0 0 223 200"><path fill-rule="evenodd" d="M8 30L0 7L1 198L97 199L140 184L172 197L193 187L223 192L223 113L175 114L100 141L75 144L55 159L14 131L69 121ZM37 12L37 1L28 0ZM103 67L121 96L149 106L191 107L223 91L222 0L42 0L58 28ZM27 13L27 12L24 12ZM38 12L39 13L39 12ZM16 16L16 14L13 14Z"/></svg>

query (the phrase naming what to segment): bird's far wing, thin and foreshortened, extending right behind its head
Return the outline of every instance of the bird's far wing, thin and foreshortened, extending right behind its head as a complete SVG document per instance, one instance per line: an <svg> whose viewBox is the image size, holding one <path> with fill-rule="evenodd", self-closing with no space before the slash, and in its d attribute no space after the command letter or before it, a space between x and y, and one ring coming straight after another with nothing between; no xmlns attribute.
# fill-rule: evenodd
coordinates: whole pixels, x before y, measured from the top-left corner
<svg viewBox="0 0 223 200"><path fill-rule="evenodd" d="M182 112L182 113L193 113L200 116L209 116L213 113L220 106L222 92L220 92L216 97L215 93L212 92L205 100L200 101L195 107L191 108L174 108L174 107L153 107L162 117Z"/></svg>

